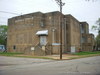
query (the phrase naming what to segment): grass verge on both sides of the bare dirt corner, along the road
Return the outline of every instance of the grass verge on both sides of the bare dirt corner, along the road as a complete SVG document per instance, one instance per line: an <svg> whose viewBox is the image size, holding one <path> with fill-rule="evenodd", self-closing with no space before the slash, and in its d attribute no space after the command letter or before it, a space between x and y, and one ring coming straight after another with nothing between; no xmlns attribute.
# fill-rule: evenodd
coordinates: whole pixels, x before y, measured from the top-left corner
<svg viewBox="0 0 100 75"><path fill-rule="evenodd" d="M78 57L75 57L74 55ZM46 56L32 56L32 55L25 55L23 53L9 53L9 52L0 52L0 56L37 58L37 59L53 59L52 57L46 57ZM69 59L79 59L79 58L92 57L92 56L100 56L100 51L75 53L73 54L73 57L69 57Z"/></svg>

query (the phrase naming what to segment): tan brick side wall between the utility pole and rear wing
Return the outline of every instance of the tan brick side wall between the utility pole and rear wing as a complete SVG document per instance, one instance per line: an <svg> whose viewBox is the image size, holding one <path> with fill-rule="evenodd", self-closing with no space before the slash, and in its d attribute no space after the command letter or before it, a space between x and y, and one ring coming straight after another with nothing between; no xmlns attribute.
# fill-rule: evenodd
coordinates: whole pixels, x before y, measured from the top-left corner
<svg viewBox="0 0 100 75"><path fill-rule="evenodd" d="M67 47L68 51L71 51L71 47L75 47L76 52L80 48L80 24L77 19L72 15L66 15L67 18Z"/></svg>

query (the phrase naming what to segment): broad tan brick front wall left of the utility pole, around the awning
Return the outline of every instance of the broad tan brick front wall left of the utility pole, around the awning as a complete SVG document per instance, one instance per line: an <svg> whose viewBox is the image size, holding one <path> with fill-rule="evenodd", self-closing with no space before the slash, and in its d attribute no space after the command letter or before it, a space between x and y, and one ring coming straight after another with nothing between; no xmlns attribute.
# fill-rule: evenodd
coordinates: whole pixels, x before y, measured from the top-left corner
<svg viewBox="0 0 100 75"><path fill-rule="evenodd" d="M36 32L40 30L48 30L46 37L49 44L52 44L53 40L59 43L59 18L59 12L45 14L36 12L9 19L8 52L24 52L28 47L36 46L40 42ZM53 29L55 36L52 35Z"/></svg>

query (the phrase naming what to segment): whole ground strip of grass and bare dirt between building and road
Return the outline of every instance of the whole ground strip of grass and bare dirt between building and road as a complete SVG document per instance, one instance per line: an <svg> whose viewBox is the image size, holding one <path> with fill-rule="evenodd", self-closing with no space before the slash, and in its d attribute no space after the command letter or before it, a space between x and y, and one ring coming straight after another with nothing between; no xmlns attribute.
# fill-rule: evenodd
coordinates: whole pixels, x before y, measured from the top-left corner
<svg viewBox="0 0 100 75"><path fill-rule="evenodd" d="M0 56L10 56L10 57L23 57L23 58L38 58L38 59L54 59L59 60L59 55L49 55L49 56L32 56L32 55L25 55L23 53L8 53L8 52L0 52ZM100 51L95 52L79 52L75 54L66 54L63 55L63 59L79 59L85 57L92 57L92 56L100 56Z"/></svg>

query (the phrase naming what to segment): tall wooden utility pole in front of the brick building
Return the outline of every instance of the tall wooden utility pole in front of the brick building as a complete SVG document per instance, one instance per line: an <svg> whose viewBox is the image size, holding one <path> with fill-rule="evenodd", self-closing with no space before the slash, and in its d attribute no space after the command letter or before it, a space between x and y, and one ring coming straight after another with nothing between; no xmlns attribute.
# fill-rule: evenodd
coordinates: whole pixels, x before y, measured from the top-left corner
<svg viewBox="0 0 100 75"><path fill-rule="evenodd" d="M65 5L65 3L62 2L62 0L55 0L57 4L60 7L60 59L62 59L62 7Z"/></svg>

